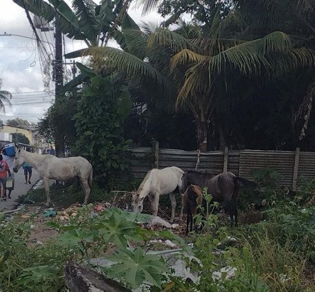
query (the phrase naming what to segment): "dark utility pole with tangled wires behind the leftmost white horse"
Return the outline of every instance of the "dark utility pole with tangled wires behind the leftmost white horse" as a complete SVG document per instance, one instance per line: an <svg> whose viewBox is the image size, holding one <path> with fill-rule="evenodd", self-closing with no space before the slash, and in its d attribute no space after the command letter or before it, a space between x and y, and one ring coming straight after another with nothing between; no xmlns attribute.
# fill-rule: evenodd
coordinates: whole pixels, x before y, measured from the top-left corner
<svg viewBox="0 0 315 292"><path fill-rule="evenodd" d="M61 97L61 88L63 87L63 62L62 62L62 33L59 28L54 29L55 40L55 60L54 60L54 78L55 78L55 102ZM57 157L65 157L65 144L61 131L57 129L54 137Z"/></svg>

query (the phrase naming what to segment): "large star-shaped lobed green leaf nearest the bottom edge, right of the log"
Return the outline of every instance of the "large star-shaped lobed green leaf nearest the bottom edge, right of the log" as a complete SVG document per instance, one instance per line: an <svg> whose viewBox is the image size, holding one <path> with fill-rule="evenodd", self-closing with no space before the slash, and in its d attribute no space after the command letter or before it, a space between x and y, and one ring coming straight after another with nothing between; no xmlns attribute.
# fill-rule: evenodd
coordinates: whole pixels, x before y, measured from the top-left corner
<svg viewBox="0 0 315 292"><path fill-rule="evenodd" d="M145 254L140 248L134 251L120 249L108 258L117 262L106 273L108 277L123 278L132 289L136 289L144 282L161 289L161 273L169 272L158 256Z"/></svg>

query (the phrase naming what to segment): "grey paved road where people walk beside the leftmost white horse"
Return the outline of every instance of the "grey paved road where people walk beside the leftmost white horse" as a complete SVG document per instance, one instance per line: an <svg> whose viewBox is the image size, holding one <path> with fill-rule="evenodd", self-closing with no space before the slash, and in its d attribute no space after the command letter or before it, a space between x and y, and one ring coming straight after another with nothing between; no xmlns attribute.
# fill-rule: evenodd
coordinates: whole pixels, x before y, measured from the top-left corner
<svg viewBox="0 0 315 292"><path fill-rule="evenodd" d="M14 202L14 200L17 200L18 196L25 195L28 193L28 190L39 180L39 174L38 172L33 168L32 169L32 178L31 182L32 184L24 185L25 178L24 178L24 172L23 169L19 169L17 174L14 174L15 178L15 186L14 190L11 193L11 198L7 199L6 201L0 202L0 211L9 211L14 209L14 207L17 205L17 202Z"/></svg>

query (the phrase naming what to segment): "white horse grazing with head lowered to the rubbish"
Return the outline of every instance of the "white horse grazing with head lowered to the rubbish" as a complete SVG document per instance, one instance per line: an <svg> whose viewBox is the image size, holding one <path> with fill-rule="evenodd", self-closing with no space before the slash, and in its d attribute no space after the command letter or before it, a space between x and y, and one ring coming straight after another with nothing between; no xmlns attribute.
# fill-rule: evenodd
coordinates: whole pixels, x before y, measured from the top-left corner
<svg viewBox="0 0 315 292"><path fill-rule="evenodd" d="M143 210L143 200L150 196L152 205L152 214L157 216L159 208L160 195L170 194L172 203L171 222L175 218L176 199L172 191L178 187L182 189L182 176L184 171L179 167L166 167L164 169L151 169L143 179L139 189L132 195L132 207L135 213L141 213ZM183 200L181 206L181 215L183 214ZM180 216L181 218L181 216Z"/></svg>

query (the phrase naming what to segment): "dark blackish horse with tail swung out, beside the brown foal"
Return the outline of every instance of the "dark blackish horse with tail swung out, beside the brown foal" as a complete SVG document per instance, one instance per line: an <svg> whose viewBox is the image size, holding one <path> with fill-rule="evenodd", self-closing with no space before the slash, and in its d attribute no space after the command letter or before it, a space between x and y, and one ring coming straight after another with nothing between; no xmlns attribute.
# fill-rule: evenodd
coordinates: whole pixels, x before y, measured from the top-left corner
<svg viewBox="0 0 315 292"><path fill-rule="evenodd" d="M199 185L201 189L207 187L207 193L212 195L212 200L220 202L225 211L230 214L231 225L233 226L233 216L235 218L235 226L237 227L237 199L241 186L257 187L252 180L247 180L240 176L236 176L230 171L222 174L213 175L200 171L186 171L182 177L181 192L190 185Z"/></svg>

